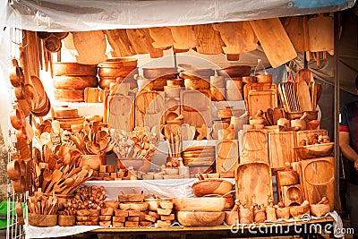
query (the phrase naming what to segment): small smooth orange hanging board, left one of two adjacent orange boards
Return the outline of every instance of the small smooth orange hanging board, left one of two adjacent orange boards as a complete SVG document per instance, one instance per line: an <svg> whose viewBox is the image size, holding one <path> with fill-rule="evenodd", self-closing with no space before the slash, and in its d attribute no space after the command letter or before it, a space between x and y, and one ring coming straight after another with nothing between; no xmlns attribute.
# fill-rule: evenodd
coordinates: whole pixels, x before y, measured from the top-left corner
<svg viewBox="0 0 358 239"><path fill-rule="evenodd" d="M149 28L149 35L154 40L152 46L154 48L172 47L175 40L172 31L169 28Z"/></svg>

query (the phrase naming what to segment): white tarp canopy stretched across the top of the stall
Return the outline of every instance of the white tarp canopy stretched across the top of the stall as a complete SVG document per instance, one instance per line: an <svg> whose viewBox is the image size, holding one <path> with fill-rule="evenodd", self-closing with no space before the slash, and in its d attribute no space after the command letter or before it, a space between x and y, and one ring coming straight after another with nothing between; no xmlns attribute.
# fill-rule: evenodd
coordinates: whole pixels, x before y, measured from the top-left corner
<svg viewBox="0 0 358 239"><path fill-rule="evenodd" d="M355 0L0 0L0 26L37 31L135 29L328 13L350 8L354 2Z"/></svg>

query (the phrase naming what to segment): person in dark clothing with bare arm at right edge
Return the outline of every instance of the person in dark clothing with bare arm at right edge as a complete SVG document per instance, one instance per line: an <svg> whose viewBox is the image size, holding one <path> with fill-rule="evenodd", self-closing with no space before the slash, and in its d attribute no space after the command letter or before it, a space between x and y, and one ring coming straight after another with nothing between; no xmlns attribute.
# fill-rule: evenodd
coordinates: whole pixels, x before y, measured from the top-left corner
<svg viewBox="0 0 358 239"><path fill-rule="evenodd" d="M355 78L355 89L358 93L358 75ZM354 239L358 239L358 100L341 107L339 148L348 159L347 209L351 215Z"/></svg>

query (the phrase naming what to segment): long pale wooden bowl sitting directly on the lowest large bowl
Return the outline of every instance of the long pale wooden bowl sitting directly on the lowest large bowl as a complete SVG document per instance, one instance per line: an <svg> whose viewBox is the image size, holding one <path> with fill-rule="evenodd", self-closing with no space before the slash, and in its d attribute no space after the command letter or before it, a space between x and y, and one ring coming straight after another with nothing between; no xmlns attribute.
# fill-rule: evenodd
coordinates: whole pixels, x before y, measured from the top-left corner
<svg viewBox="0 0 358 239"><path fill-rule="evenodd" d="M225 198L174 198L177 211L222 211Z"/></svg>

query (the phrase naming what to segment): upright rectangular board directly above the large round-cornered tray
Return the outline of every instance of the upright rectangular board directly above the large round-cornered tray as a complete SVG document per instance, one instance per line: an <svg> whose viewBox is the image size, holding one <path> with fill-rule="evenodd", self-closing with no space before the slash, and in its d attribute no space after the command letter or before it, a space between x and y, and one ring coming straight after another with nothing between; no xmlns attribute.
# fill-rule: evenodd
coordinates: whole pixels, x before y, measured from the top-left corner
<svg viewBox="0 0 358 239"><path fill-rule="evenodd" d="M243 133L243 149L240 163L268 161L268 134L263 131L249 130Z"/></svg>

